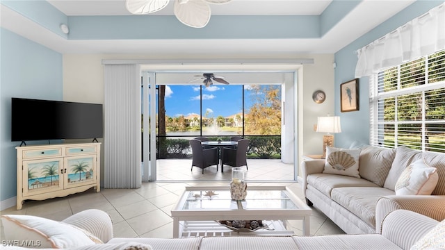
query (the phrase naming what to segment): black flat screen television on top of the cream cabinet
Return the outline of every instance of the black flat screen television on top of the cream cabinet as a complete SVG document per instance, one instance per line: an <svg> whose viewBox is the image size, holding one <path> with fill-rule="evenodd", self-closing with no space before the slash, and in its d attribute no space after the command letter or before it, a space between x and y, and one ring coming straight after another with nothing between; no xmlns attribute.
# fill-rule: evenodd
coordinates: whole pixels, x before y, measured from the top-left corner
<svg viewBox="0 0 445 250"><path fill-rule="evenodd" d="M11 141L103 137L102 104L12 98Z"/></svg>

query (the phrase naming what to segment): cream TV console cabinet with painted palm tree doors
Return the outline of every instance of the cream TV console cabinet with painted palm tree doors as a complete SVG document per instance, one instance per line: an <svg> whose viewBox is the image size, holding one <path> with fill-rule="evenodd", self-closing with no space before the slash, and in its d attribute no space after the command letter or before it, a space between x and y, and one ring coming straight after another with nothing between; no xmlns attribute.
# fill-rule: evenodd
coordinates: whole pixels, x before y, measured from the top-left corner
<svg viewBox="0 0 445 250"><path fill-rule="evenodd" d="M16 147L17 210L23 201L100 192L100 142Z"/></svg>

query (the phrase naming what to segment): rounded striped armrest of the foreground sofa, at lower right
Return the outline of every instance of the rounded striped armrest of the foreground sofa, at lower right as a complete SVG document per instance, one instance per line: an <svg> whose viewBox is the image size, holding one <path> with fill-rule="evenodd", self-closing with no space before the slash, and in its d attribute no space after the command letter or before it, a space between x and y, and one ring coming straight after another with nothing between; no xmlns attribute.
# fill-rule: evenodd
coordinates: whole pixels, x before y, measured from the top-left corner
<svg viewBox="0 0 445 250"><path fill-rule="evenodd" d="M437 220L419 213L396 210L383 219L382 236L401 249L410 249L438 223Z"/></svg>

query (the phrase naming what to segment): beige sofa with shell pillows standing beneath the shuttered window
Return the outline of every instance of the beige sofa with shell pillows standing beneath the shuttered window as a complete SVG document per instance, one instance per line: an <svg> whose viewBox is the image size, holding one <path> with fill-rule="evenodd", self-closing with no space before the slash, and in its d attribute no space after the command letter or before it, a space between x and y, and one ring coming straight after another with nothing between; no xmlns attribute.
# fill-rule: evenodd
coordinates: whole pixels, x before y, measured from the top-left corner
<svg viewBox="0 0 445 250"><path fill-rule="evenodd" d="M396 195L403 170L423 159L437 168L432 195ZM321 210L346 233L380 233L383 219L397 209L436 220L445 218L445 155L398 147L364 146L359 152L359 178L323 174L325 160L302 162L303 191L309 206Z"/></svg>

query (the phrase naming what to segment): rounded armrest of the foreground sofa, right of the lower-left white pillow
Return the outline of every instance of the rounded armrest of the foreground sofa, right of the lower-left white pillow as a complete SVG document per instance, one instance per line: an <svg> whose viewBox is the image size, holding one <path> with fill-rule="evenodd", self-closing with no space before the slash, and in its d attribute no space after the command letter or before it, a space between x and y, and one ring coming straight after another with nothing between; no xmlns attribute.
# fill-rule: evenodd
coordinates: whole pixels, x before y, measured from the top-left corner
<svg viewBox="0 0 445 250"><path fill-rule="evenodd" d="M106 243L113 238L113 222L108 213L98 209L88 209L67 217L62 222L77 226L95 235Z"/></svg>

